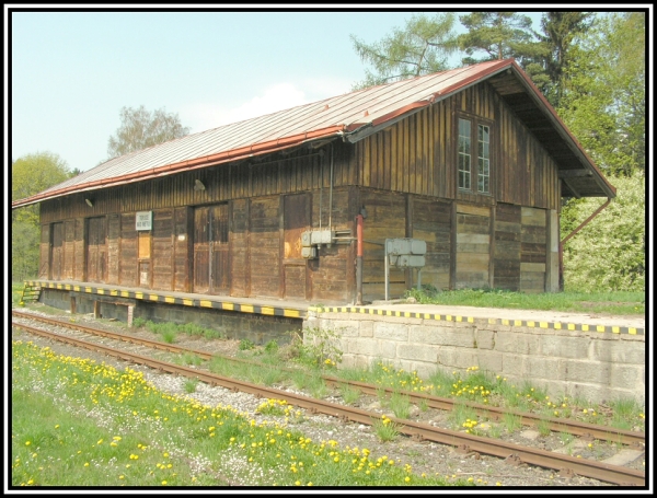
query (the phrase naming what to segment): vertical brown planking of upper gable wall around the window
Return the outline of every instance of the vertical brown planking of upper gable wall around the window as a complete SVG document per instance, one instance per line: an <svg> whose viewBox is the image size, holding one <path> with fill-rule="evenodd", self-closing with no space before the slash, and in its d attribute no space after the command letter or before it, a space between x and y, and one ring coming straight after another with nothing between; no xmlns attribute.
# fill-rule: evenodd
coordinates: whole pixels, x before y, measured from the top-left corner
<svg viewBox="0 0 657 498"><path fill-rule="evenodd" d="M492 195L457 193L457 118L491 124ZM489 121L489 123L488 123ZM554 161L487 83L440 101L356 144L361 185L446 199L558 209Z"/></svg>

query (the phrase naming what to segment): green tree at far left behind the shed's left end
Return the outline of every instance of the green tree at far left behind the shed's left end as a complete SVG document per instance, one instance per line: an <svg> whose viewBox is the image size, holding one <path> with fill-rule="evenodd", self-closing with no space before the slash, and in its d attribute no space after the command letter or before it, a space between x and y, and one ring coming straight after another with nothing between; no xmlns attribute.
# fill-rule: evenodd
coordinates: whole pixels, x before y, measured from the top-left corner
<svg viewBox="0 0 657 498"><path fill-rule="evenodd" d="M11 200L20 200L53 187L71 172L59 155L37 152L19 158L11 165ZM39 242L38 205L12 211L11 275L13 281L35 277L38 271Z"/></svg>

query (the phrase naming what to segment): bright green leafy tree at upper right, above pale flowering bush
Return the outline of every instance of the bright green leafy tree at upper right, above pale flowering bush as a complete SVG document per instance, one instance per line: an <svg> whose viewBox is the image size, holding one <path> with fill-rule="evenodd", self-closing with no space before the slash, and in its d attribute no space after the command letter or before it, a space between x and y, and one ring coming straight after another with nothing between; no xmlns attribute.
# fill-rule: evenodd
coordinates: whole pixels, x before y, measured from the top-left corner
<svg viewBox="0 0 657 498"><path fill-rule="evenodd" d="M608 174L645 170L645 14L603 15L570 50L557 112Z"/></svg>

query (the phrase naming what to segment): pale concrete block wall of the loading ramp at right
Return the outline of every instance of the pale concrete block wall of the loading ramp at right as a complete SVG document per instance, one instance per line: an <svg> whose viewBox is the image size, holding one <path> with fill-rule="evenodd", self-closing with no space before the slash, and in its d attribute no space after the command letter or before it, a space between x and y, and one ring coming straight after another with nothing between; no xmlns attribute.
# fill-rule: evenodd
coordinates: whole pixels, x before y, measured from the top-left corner
<svg viewBox="0 0 657 498"><path fill-rule="evenodd" d="M645 403L645 336L309 310L304 327L339 336L341 367L378 360L427 379L479 367L550 396Z"/></svg>

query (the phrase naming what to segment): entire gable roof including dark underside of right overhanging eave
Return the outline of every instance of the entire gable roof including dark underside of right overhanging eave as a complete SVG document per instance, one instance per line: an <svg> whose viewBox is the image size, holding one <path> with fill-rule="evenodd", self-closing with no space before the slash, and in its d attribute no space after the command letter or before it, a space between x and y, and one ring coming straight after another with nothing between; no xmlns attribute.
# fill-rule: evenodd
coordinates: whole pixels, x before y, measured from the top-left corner
<svg viewBox="0 0 657 498"><path fill-rule="evenodd" d="M615 188L514 59L495 60L334 96L131 152L100 164L12 209L342 137L356 142L482 81L499 93L558 165L564 197L615 197Z"/></svg>

